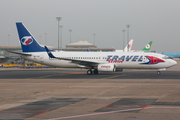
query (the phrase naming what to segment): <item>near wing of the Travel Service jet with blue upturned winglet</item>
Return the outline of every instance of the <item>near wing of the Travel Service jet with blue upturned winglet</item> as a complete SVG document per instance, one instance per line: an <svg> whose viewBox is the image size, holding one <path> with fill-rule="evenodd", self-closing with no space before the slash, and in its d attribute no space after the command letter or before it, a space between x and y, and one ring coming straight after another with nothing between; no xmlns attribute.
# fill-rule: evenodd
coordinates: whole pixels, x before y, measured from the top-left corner
<svg viewBox="0 0 180 120"><path fill-rule="evenodd" d="M55 58L55 59L60 59L60 60L68 60L68 61L71 61L72 63L75 63L75 64L78 64L78 65L83 65L83 66L86 66L86 67L95 67L97 66L99 63L97 62L92 62L92 61L84 61L84 60L76 60L76 59L68 59L68 58L61 58L61 57L55 57L51 52L50 50L44 46L46 51L47 51L47 54L50 58Z"/></svg>

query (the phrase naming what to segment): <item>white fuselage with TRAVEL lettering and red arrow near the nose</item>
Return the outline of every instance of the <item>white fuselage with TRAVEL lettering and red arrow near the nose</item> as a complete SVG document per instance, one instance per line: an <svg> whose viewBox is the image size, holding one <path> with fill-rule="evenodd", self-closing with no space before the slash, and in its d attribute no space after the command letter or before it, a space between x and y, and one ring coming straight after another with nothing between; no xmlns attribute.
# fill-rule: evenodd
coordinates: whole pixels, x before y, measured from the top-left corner
<svg viewBox="0 0 180 120"><path fill-rule="evenodd" d="M59 58L96 62L98 64L112 63L119 69L161 69L174 66L176 61L157 53L142 52L52 52ZM61 68L82 68L83 65L69 60L49 58L47 52L31 52L32 56L22 56L28 60ZM149 58L147 56L150 56ZM163 62L162 62L163 61ZM87 68L87 66L86 66Z"/></svg>

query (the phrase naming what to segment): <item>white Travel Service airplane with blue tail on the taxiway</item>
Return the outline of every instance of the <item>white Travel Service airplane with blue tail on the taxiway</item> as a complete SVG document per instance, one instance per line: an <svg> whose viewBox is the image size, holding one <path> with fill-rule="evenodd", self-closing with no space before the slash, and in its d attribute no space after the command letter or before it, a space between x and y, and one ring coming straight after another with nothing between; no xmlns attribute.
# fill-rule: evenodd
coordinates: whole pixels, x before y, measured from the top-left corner
<svg viewBox="0 0 180 120"><path fill-rule="evenodd" d="M40 46L21 22L17 22L16 26L23 52L11 51L11 53L48 66L88 69L88 75L98 74L101 71L114 72L116 69L157 69L159 75L161 70L177 64L168 56L157 53L49 50L46 46Z"/></svg>

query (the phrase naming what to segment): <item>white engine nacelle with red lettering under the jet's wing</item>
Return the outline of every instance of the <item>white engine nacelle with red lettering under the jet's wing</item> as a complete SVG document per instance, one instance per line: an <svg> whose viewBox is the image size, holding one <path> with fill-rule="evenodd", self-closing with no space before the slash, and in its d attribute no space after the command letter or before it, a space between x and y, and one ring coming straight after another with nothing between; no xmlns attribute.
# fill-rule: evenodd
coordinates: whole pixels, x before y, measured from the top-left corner
<svg viewBox="0 0 180 120"><path fill-rule="evenodd" d="M97 69L98 71L110 71L110 72L116 71L116 68L114 67L113 63L99 64Z"/></svg>

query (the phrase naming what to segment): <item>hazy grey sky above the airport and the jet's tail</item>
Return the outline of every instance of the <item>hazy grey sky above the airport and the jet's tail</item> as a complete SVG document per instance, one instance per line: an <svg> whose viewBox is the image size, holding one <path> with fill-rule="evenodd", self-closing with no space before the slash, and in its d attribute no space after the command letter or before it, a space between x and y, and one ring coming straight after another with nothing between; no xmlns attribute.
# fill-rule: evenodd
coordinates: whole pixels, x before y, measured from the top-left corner
<svg viewBox="0 0 180 120"><path fill-rule="evenodd" d="M100 48L123 49L123 29L130 24L133 50L153 41L151 50L180 52L179 0L0 0L0 46L19 46L16 22L23 22L39 43L57 47L62 17L63 47L87 40ZM41 36L41 39L40 39ZM127 32L125 35L127 40ZM60 45L61 46L61 45Z"/></svg>

